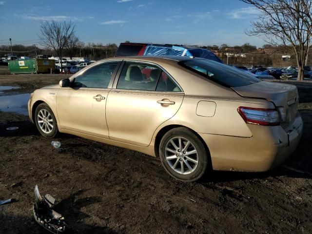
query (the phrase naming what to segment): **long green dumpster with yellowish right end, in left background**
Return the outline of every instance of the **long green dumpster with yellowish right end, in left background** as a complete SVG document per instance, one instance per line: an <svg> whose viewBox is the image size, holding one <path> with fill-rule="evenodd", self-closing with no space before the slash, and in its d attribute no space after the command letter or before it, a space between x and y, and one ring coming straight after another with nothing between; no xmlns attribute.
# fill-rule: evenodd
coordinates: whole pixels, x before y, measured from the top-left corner
<svg viewBox="0 0 312 234"><path fill-rule="evenodd" d="M55 69L54 59L22 59L8 62L11 74L50 73Z"/></svg>

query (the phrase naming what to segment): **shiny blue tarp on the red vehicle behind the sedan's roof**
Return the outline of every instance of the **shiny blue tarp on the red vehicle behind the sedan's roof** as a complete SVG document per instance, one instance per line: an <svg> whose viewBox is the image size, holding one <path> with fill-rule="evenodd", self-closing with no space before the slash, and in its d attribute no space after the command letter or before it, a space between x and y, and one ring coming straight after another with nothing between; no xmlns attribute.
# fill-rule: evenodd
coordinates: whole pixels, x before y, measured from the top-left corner
<svg viewBox="0 0 312 234"><path fill-rule="evenodd" d="M209 50L201 48L184 48L180 46L161 46L148 45L144 51L144 55L168 55L168 56L194 56L197 58L204 58L223 63L221 59L215 56Z"/></svg>

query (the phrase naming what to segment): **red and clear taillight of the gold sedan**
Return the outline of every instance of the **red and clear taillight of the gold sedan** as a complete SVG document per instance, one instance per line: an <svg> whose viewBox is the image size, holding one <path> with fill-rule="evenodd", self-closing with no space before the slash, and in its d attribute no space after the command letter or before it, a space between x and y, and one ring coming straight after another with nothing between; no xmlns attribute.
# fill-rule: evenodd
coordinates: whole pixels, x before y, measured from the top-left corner
<svg viewBox="0 0 312 234"><path fill-rule="evenodd" d="M246 121L265 126L276 126L280 124L280 117L275 109L263 109L252 107L238 107L238 113Z"/></svg>

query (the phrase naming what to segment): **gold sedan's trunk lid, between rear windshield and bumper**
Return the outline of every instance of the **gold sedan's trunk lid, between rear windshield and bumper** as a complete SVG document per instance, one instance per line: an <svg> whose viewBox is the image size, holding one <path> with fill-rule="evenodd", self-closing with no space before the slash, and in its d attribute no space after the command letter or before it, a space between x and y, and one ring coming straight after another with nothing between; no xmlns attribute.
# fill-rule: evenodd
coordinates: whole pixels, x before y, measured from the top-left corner
<svg viewBox="0 0 312 234"><path fill-rule="evenodd" d="M276 107L284 107L286 119L281 123L284 129L288 128L297 115L299 98L295 85L261 81L232 89L242 97L263 98L272 101Z"/></svg>

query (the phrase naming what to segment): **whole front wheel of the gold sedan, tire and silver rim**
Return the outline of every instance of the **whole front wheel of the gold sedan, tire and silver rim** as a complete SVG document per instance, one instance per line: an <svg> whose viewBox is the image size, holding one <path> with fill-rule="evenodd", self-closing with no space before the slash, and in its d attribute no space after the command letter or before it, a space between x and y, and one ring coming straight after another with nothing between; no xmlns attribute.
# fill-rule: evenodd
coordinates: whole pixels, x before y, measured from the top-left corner
<svg viewBox="0 0 312 234"><path fill-rule="evenodd" d="M58 133L58 124L51 108L41 103L35 111L37 129L43 137L53 138Z"/></svg>

